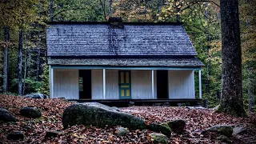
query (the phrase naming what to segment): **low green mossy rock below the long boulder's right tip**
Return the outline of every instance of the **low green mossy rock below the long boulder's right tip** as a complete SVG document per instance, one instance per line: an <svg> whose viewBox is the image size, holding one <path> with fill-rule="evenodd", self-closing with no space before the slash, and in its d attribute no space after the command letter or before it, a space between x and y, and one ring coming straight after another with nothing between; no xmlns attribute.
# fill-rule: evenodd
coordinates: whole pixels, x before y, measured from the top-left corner
<svg viewBox="0 0 256 144"><path fill-rule="evenodd" d="M147 129L165 134L167 137L170 137L170 134L171 134L171 130L169 126L159 125L155 123L152 123L149 126L147 126Z"/></svg>

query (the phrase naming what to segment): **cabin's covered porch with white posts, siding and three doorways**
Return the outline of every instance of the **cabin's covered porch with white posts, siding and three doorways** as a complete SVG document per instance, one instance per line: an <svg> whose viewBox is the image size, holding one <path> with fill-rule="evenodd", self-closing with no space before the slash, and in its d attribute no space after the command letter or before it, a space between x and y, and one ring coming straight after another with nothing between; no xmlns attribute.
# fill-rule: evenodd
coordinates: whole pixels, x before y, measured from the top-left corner
<svg viewBox="0 0 256 144"><path fill-rule="evenodd" d="M199 82L194 82L198 70ZM50 98L80 102L182 102L202 98L200 67L50 65ZM192 102L191 101L191 102ZM194 101L193 101L194 102Z"/></svg>

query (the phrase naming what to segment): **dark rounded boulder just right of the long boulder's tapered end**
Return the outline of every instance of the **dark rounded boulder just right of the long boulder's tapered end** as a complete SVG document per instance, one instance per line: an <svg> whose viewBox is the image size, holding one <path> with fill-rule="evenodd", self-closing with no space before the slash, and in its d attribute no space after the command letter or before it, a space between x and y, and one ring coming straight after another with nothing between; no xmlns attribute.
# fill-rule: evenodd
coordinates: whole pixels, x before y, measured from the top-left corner
<svg viewBox="0 0 256 144"><path fill-rule="evenodd" d="M182 119L174 120L167 123L170 127L170 130L174 131L175 133L182 133L186 126L186 121Z"/></svg>

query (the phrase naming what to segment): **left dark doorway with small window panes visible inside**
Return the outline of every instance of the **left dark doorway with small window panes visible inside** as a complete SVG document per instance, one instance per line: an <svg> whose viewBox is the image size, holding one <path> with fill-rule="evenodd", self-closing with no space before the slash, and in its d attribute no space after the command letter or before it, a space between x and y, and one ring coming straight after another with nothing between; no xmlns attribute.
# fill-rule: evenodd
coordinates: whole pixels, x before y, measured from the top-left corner
<svg viewBox="0 0 256 144"><path fill-rule="evenodd" d="M79 99L91 99L91 70L79 70Z"/></svg>

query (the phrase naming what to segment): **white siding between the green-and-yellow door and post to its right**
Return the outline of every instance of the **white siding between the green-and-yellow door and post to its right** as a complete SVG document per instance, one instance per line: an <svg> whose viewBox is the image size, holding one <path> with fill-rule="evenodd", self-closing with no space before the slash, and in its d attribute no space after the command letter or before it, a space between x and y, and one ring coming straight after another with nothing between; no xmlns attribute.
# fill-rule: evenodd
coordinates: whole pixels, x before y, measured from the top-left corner
<svg viewBox="0 0 256 144"><path fill-rule="evenodd" d="M151 74L151 70L131 70L132 99L152 99Z"/></svg>

